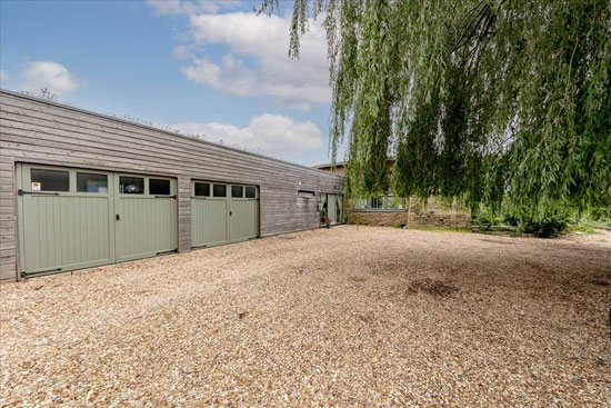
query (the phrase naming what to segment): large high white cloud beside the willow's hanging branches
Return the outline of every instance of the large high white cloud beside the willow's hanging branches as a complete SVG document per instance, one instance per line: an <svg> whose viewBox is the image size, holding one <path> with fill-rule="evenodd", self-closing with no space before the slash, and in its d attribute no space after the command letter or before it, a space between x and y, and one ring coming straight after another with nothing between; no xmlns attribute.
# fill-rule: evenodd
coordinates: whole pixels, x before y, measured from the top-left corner
<svg viewBox="0 0 611 408"><path fill-rule="evenodd" d="M300 60L288 57L288 19L233 12L191 14L190 23L198 44L226 44L231 51L221 61L193 58L182 69L193 82L229 94L276 97L306 111L315 103L329 103L327 42L320 21L310 22L310 31L301 41ZM246 59L253 62L252 68L247 67ZM213 82L209 80L211 64L219 72Z"/></svg>

